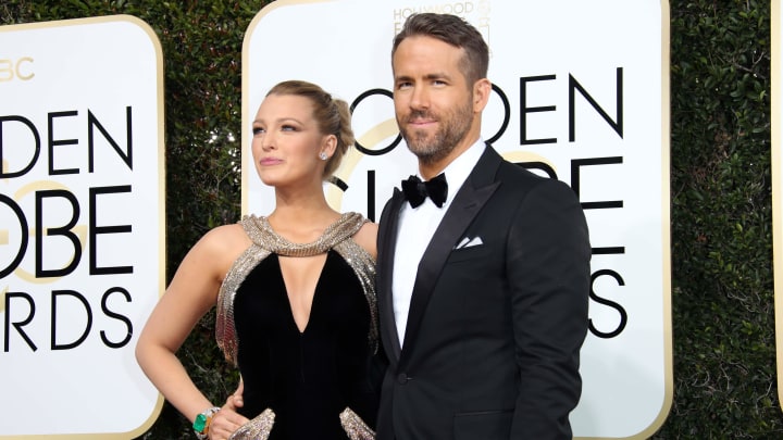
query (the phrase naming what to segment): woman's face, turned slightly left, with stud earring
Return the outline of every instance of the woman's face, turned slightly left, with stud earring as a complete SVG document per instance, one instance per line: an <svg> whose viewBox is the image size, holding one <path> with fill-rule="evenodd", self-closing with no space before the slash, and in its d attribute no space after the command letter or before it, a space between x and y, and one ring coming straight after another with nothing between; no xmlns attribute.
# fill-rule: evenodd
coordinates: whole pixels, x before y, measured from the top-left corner
<svg viewBox="0 0 783 440"><path fill-rule="evenodd" d="M332 155L330 136L313 116L313 104L296 95L270 95L252 123L252 154L261 180L274 187L321 185Z"/></svg>

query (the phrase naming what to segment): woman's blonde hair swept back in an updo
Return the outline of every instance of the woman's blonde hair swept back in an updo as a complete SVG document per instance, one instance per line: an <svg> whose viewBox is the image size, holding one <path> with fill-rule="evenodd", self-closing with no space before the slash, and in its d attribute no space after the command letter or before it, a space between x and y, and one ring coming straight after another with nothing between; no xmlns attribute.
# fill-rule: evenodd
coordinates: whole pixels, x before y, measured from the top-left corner
<svg viewBox="0 0 783 440"><path fill-rule="evenodd" d="M318 85L302 80L278 83L266 93L268 97L270 95L294 95L309 99L313 103L313 116L321 133L337 137L337 148L326 161L324 169L323 178L327 180L339 166L348 148L356 141L348 103L341 99L332 98L332 95Z"/></svg>

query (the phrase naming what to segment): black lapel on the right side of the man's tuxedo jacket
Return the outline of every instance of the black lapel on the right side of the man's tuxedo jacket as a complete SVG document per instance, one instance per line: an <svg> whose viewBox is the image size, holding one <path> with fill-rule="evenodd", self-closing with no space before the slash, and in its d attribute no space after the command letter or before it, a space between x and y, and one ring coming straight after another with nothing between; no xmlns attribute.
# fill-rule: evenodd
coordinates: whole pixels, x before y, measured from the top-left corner
<svg viewBox="0 0 783 440"><path fill-rule="evenodd" d="M402 345L405 350L399 357L400 365L405 365L409 356L407 353L410 353L415 344L421 320L424 317L430 297L435 289L446 260L453 250L457 240L460 239L482 206L500 185L500 183L494 181L500 162L500 155L487 146L473 172L471 172L462 188L455 196L446 215L424 251L413 285L405 343ZM403 237L402 235L400 238Z"/></svg>

